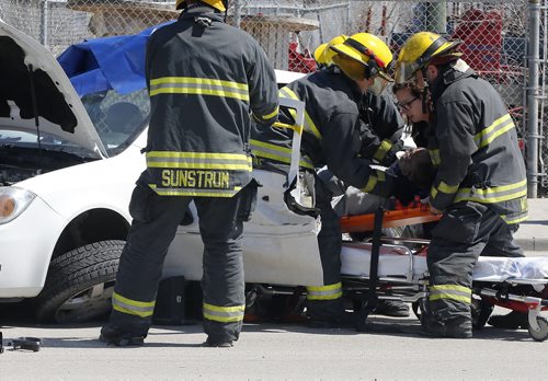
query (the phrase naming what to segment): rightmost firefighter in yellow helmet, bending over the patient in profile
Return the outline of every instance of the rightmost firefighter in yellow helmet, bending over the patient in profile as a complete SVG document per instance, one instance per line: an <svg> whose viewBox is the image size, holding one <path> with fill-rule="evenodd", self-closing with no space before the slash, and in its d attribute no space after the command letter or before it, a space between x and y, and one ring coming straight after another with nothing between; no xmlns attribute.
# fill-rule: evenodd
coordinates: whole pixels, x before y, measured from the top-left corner
<svg viewBox="0 0 548 381"><path fill-rule="evenodd" d="M480 253L522 255L512 233L527 218L525 165L516 128L499 93L459 57L460 42L421 32L402 46L396 81L427 89L433 104L429 140L436 176L430 208L430 291L423 332L472 336L471 276Z"/></svg>

